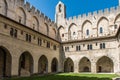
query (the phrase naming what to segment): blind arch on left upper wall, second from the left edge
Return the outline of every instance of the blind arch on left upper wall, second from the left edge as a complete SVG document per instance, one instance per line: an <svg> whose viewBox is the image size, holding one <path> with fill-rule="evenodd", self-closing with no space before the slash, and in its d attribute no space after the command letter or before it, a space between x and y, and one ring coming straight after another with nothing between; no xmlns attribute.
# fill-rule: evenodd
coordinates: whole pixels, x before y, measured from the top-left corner
<svg viewBox="0 0 120 80"><path fill-rule="evenodd" d="M26 13L22 7L17 8L16 15L16 19L19 23L26 24Z"/></svg>

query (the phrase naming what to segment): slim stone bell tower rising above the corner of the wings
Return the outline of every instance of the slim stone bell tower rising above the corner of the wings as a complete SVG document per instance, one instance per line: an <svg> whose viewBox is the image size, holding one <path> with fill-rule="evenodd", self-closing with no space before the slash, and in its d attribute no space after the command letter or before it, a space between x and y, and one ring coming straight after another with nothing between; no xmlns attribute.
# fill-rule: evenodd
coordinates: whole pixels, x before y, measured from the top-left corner
<svg viewBox="0 0 120 80"><path fill-rule="evenodd" d="M59 26L61 24L64 24L65 18L66 18L66 7L61 1L59 1L59 3L56 6L55 22Z"/></svg>

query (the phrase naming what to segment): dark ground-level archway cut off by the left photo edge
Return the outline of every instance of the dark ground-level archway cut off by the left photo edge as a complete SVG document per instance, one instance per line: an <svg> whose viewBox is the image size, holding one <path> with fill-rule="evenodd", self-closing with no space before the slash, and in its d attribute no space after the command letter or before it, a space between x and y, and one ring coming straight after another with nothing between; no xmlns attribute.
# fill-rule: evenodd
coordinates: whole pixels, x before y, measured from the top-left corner
<svg viewBox="0 0 120 80"><path fill-rule="evenodd" d="M0 77L11 76L11 62L12 57L9 51L4 47L0 47Z"/></svg>

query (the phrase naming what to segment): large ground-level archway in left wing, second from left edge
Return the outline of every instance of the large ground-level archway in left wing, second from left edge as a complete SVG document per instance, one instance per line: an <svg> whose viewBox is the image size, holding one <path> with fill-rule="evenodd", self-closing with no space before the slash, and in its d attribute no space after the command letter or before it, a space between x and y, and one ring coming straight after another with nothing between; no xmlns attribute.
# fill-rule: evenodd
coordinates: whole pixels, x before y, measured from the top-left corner
<svg viewBox="0 0 120 80"><path fill-rule="evenodd" d="M24 52L19 59L19 76L30 76L32 73L33 57L29 52Z"/></svg>

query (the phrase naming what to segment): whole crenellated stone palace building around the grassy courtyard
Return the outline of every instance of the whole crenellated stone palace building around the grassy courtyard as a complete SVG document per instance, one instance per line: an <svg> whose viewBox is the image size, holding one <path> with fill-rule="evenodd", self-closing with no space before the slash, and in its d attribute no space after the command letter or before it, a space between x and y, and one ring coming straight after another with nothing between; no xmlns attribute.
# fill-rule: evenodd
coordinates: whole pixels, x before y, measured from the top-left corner
<svg viewBox="0 0 120 80"><path fill-rule="evenodd" d="M55 22L24 0L0 0L0 77L120 73L120 6Z"/></svg>

